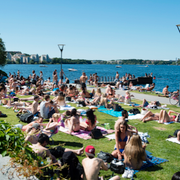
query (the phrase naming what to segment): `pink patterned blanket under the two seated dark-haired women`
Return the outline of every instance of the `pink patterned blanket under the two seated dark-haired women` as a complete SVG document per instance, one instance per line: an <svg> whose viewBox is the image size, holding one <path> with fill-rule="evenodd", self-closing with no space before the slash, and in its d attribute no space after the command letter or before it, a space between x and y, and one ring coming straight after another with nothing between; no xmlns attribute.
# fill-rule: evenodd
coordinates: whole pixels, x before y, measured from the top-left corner
<svg viewBox="0 0 180 180"><path fill-rule="evenodd" d="M99 127L99 126L97 126L96 128L100 129L103 135L114 132L114 130L111 130L111 129L106 130L105 128ZM59 131L69 134L69 129L63 128L62 126L60 126ZM91 136L89 136L89 133L90 131L80 130L79 132L72 132L71 135L87 140L87 139L91 139Z"/></svg>

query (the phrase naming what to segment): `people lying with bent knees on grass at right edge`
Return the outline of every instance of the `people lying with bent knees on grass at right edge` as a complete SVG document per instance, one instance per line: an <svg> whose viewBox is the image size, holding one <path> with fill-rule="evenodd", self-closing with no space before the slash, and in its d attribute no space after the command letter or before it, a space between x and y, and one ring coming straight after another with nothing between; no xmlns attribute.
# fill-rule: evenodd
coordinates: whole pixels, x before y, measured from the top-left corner
<svg viewBox="0 0 180 180"><path fill-rule="evenodd" d="M147 121L153 121L153 120L159 120L159 123L166 123L170 121L178 121L178 116L171 115L172 113L179 115L178 112L169 110L167 113L165 110L161 110L160 113L152 113L151 111L148 111L140 121L147 122Z"/></svg>

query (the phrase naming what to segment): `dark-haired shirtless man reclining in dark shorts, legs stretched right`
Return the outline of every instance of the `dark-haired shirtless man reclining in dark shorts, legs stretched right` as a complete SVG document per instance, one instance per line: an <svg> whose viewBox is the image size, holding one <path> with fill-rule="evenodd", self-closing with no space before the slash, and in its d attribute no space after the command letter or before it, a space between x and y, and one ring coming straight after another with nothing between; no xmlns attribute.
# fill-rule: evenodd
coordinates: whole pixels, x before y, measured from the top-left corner
<svg viewBox="0 0 180 180"><path fill-rule="evenodd" d="M30 146L35 153L37 153L42 158L50 157L52 162L56 163L56 158L62 157L64 152L72 151L76 155L81 155L84 153L84 147L81 149L73 150L68 148L63 148L57 146L55 148L47 149L46 146L49 144L49 137L46 134L40 134L36 144Z"/></svg>

